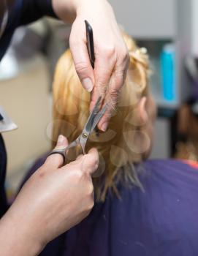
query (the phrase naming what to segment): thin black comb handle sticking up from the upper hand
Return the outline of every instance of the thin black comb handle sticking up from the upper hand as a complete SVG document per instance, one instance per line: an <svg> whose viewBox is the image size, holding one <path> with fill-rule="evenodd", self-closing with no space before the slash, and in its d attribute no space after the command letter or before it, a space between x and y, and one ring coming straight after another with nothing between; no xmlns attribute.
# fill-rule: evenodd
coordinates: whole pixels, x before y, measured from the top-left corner
<svg viewBox="0 0 198 256"><path fill-rule="evenodd" d="M87 37L87 48L88 48L88 56L91 62L91 66L94 69L94 62L95 62L95 54L94 54L94 35L93 29L91 25L85 20L85 27L86 27L86 37Z"/></svg>

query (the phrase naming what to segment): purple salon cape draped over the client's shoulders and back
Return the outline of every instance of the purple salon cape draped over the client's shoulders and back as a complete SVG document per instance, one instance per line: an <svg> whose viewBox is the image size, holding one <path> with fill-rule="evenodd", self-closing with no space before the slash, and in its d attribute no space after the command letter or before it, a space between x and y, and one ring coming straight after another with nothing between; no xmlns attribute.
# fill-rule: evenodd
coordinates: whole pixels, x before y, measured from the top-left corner
<svg viewBox="0 0 198 256"><path fill-rule="evenodd" d="M144 192L120 184L121 199L109 193L40 256L197 256L198 168L149 160L141 169Z"/></svg>

